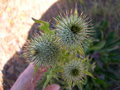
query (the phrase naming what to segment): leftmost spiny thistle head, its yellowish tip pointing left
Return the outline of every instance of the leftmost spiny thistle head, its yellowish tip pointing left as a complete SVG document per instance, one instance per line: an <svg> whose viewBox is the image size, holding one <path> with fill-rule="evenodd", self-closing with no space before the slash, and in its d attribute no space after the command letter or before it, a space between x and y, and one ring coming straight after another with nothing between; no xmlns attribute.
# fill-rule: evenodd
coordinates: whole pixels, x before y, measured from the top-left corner
<svg viewBox="0 0 120 90"><path fill-rule="evenodd" d="M25 57L38 65L54 65L57 63L60 48L52 35L33 38L25 47Z"/></svg>

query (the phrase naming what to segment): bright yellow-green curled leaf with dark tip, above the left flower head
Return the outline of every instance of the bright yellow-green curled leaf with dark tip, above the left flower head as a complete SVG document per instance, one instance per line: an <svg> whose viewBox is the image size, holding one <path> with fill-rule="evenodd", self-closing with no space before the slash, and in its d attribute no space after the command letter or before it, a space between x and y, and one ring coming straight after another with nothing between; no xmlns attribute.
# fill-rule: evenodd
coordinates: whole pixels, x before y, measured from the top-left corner
<svg viewBox="0 0 120 90"><path fill-rule="evenodd" d="M42 20L36 20L32 18L35 23L39 23L39 29L43 30L45 33L50 34L53 33L53 31L50 30L50 24L48 22L42 21Z"/></svg>

